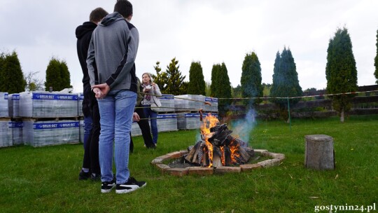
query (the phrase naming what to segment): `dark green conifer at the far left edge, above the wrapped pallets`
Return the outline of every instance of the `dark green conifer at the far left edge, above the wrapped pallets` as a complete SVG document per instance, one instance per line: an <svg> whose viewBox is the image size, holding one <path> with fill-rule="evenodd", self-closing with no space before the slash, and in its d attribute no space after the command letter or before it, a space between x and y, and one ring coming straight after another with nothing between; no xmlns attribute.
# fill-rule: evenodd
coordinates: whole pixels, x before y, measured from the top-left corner
<svg viewBox="0 0 378 213"><path fill-rule="evenodd" d="M1 83L0 91L18 93L25 91L26 81L22 73L17 53L1 56Z"/></svg>

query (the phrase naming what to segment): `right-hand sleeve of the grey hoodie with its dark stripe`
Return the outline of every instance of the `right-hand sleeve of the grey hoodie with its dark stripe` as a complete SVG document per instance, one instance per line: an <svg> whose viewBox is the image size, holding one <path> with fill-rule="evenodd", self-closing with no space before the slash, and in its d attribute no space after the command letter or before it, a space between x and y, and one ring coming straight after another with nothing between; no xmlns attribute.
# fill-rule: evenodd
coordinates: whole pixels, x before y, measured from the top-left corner
<svg viewBox="0 0 378 213"><path fill-rule="evenodd" d="M118 66L117 70L106 80L106 84L108 84L110 88L120 83L120 81L130 73L137 57L139 46L138 29L135 27L130 29L130 34L125 39L125 43L127 43L127 53L123 56L123 60L120 62L120 66Z"/></svg>

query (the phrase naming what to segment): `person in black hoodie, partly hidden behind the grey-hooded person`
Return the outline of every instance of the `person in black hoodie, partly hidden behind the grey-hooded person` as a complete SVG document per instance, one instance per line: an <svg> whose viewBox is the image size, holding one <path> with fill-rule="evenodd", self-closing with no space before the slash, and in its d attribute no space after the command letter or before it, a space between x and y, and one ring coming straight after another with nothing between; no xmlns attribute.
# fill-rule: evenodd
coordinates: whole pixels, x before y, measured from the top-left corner
<svg viewBox="0 0 378 213"><path fill-rule="evenodd" d="M90 21L76 27L76 48L78 50L78 60L83 71L83 105L84 114L84 156L83 168L79 173L79 180L101 178L99 166L99 106L94 93L90 88L90 76L87 69L87 52L92 38L92 32L97 27L97 23L102 20L108 12L103 8L95 8L90 13ZM94 72L97 72L94 67Z"/></svg>

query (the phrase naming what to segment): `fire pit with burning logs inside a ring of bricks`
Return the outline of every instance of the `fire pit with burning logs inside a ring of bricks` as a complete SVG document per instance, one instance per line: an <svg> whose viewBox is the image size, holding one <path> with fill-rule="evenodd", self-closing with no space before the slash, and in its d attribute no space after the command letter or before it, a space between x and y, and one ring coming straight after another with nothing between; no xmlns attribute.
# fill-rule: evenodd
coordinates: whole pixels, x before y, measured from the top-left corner
<svg viewBox="0 0 378 213"><path fill-rule="evenodd" d="M201 140L186 151L176 151L155 158L151 163L162 172L176 176L186 174L213 174L246 172L260 167L279 165L285 156L267 150L253 150L246 142L233 137L226 124L215 116L206 116L201 125ZM258 163L248 163L260 157L272 158ZM168 161L169 164L165 164Z"/></svg>

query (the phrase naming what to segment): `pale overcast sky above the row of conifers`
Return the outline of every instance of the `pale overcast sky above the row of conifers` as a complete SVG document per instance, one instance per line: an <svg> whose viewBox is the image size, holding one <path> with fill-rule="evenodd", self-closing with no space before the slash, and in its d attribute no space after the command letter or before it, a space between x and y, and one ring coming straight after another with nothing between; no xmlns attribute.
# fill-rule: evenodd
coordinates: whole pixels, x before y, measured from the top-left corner
<svg viewBox="0 0 378 213"><path fill-rule="evenodd" d="M65 60L74 92L83 91L75 29L102 7L113 12L116 0L0 0L0 52L18 53L22 71L45 69L51 57ZM378 1L138 0L132 24L139 30L137 76L160 62L162 71L176 57L189 81L190 64L202 64L211 81L213 64L225 62L233 87L240 84L246 53L261 63L262 83L272 83L277 51L290 48L302 89L326 86L329 40L338 27L351 36L358 85L372 85L378 29Z"/></svg>

